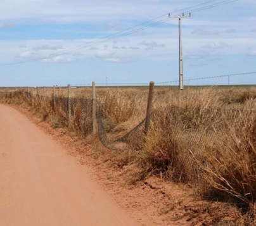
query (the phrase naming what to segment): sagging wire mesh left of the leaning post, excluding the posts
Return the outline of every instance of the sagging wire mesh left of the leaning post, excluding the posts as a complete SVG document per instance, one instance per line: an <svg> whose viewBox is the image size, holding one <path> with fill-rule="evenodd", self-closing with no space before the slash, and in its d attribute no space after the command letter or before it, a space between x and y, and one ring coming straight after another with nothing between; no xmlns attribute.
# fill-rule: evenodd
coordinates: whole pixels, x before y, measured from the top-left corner
<svg viewBox="0 0 256 226"><path fill-rule="evenodd" d="M33 95L30 92L25 92L25 96L27 96L30 100L33 99ZM54 104L54 110L58 109L65 113L65 116L68 118L68 97L54 97L51 99L49 97L45 98L44 96L36 95L36 99L38 101L51 101ZM71 98L71 115L74 118L75 125L84 132L84 134L91 134L93 132L93 99L82 99L82 98ZM78 117L78 115L79 117ZM134 146L134 138L141 137L141 141L143 141L144 129L143 125L146 122L146 118L144 118L134 129L127 132L125 135L118 137L116 139L110 139L108 137L108 120L105 120L102 116L101 104L99 101L96 101L96 118L98 125L98 137L101 143L108 149L111 150L122 150L126 149L127 145ZM80 122L77 121L77 118L80 118ZM139 146L139 143L136 144ZM141 145L141 144L140 144Z"/></svg>

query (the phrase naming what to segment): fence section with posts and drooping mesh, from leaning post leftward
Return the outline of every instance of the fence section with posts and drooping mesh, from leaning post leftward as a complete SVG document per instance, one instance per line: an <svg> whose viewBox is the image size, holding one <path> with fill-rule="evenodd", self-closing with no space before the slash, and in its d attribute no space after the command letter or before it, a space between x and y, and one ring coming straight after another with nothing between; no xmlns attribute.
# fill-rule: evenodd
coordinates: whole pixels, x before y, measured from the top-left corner
<svg viewBox="0 0 256 226"><path fill-rule="evenodd" d="M148 97L148 107L146 116L134 129L130 130L122 137L113 138L108 135L108 120L102 116L101 103L96 99L96 87L93 82L91 98L72 97L72 87L46 87L25 88L23 91L0 92L1 97L25 96L31 106L48 103L54 112L63 117L65 126L72 124L75 129L80 130L84 135L97 135L102 144L112 150L125 149L134 146L134 137L137 138L141 146L144 135L150 128L150 116L153 104L154 83L150 82L150 92ZM61 91L60 95L57 93ZM138 139L140 137L141 139Z"/></svg>

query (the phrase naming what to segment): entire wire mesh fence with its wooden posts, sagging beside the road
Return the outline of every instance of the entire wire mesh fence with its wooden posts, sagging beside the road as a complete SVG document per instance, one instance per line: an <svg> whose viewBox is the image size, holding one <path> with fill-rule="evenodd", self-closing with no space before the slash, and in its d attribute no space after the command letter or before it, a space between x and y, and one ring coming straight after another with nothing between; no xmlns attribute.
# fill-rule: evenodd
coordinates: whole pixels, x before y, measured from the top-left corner
<svg viewBox="0 0 256 226"><path fill-rule="evenodd" d="M163 106L153 110L153 82L150 83L148 92L148 104L145 117L141 119L133 129L118 134L112 133L111 122L103 114L101 101L96 99L96 87L93 82L91 97L74 97L72 89L68 87L26 88L25 91L0 92L0 96L10 98L23 95L32 106L48 103L54 112L63 118L65 126L72 124L76 130L84 135L98 135L102 144L112 150L133 148L141 149L151 127L162 133L163 139L172 145L179 147L175 149L188 149L195 153L202 149L202 144L221 142L222 131L227 125L237 127L241 122L246 122L248 115L255 117L255 111L243 109L225 108L182 108L178 106ZM151 125L151 127L150 127ZM151 129L152 130L152 129ZM202 142L207 140L208 142ZM160 142L160 141L159 141ZM161 144L158 144L161 146ZM171 148L171 147L170 147ZM207 148L207 147L206 147Z"/></svg>

